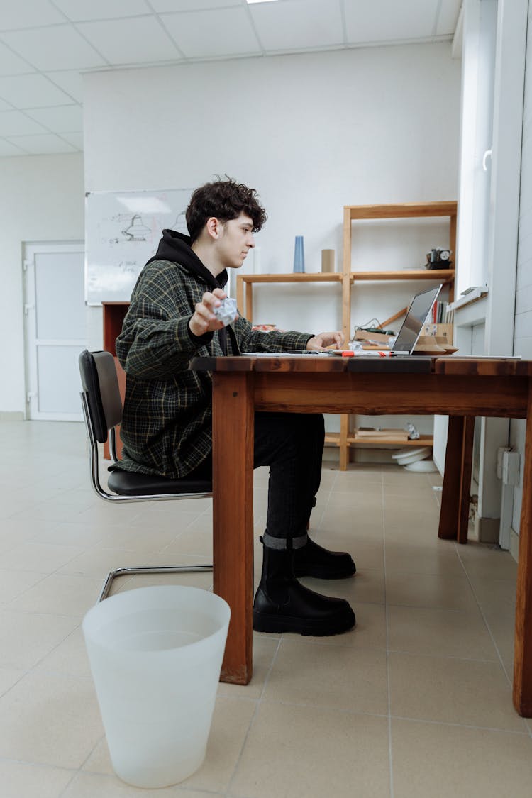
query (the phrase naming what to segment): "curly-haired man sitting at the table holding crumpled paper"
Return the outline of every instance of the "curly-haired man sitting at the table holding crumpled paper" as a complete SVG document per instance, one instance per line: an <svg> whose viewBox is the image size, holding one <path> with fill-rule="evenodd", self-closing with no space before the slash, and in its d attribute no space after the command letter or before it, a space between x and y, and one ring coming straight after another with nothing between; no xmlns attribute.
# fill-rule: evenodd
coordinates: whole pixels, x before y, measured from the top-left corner
<svg viewBox="0 0 532 798"><path fill-rule="evenodd" d="M231 179L206 184L192 194L186 219L190 238L163 231L116 339L127 375L120 467L174 479L211 478L211 374L188 369L191 358L320 350L343 342L338 332L264 334L238 315L226 327L216 318L227 296L227 269L242 266L266 221L254 189ZM356 571L349 554L327 551L307 536L324 437L321 415L255 415L254 467L270 466L255 630L325 635L355 624L348 602L310 591L297 579L341 579Z"/></svg>

